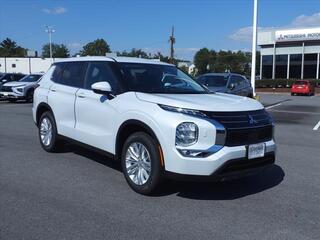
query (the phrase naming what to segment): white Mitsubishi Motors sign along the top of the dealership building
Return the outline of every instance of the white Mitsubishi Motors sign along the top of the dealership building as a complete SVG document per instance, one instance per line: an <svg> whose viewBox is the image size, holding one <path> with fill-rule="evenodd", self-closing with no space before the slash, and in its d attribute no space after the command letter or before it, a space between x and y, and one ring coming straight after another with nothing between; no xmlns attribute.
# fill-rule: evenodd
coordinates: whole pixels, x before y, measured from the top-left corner
<svg viewBox="0 0 320 240"><path fill-rule="evenodd" d="M276 42L320 40L320 28L276 31L275 39Z"/></svg>

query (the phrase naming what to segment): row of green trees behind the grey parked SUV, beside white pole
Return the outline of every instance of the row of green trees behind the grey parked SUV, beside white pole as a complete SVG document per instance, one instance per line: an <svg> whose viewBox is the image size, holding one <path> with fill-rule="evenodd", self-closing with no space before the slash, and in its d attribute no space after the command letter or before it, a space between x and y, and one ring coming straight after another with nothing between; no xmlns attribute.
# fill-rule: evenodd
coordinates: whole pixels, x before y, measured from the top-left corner
<svg viewBox="0 0 320 240"><path fill-rule="evenodd" d="M257 52L257 67L259 69L260 52ZM250 75L251 53L250 52L216 52L207 48L200 49L194 56L194 64L198 74L207 72L234 72Z"/></svg>

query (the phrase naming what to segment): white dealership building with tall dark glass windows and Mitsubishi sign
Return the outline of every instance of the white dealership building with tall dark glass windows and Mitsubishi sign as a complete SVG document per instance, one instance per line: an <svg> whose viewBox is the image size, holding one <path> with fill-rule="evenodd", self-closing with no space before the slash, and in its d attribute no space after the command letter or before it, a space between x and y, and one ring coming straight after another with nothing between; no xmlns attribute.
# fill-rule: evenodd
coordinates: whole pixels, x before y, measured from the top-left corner
<svg viewBox="0 0 320 240"><path fill-rule="evenodd" d="M319 79L320 27L261 30L258 45L263 79Z"/></svg>

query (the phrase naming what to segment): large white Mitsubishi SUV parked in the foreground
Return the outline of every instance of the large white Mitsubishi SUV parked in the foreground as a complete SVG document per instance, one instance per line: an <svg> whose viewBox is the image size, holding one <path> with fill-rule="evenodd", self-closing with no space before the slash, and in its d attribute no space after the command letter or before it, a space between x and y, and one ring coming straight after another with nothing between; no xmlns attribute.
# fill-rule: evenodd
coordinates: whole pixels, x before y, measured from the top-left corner
<svg viewBox="0 0 320 240"><path fill-rule="evenodd" d="M65 139L103 150L142 194L165 177L234 178L275 160L273 121L259 102L209 93L153 60L55 62L35 90L33 117L44 150Z"/></svg>

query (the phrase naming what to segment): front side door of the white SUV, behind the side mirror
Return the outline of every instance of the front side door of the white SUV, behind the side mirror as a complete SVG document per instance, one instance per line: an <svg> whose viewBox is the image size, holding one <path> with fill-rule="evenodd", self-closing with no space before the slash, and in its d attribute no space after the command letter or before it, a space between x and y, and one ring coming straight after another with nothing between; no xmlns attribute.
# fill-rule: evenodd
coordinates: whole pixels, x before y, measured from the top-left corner
<svg viewBox="0 0 320 240"><path fill-rule="evenodd" d="M90 62L85 77L84 87L76 93L75 113L77 140L113 152L114 128L117 116L117 97L94 93L91 85L96 82L109 82L117 92L118 79L112 70L115 63L108 61Z"/></svg>

